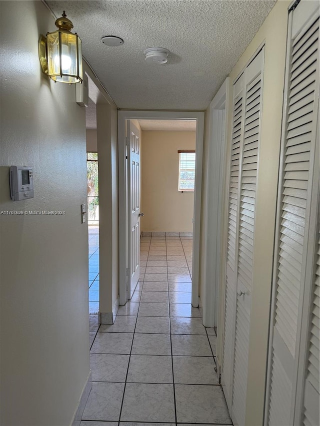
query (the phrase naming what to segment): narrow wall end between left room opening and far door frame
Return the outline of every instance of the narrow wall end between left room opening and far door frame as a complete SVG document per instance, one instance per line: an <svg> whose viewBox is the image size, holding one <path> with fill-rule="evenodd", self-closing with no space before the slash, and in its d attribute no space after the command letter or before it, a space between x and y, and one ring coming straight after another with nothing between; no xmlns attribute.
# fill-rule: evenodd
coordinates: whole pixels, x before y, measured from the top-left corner
<svg viewBox="0 0 320 426"><path fill-rule="evenodd" d="M99 301L102 324L112 324L119 296L117 111L96 105L99 161Z"/></svg>

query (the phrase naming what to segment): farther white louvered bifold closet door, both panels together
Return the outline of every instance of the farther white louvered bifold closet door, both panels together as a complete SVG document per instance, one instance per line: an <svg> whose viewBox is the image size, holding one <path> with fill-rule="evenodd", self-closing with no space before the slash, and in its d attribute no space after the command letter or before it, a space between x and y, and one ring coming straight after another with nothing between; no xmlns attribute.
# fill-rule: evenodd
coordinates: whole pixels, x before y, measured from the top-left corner
<svg viewBox="0 0 320 426"><path fill-rule="evenodd" d="M233 84L221 385L244 425L264 47Z"/></svg>

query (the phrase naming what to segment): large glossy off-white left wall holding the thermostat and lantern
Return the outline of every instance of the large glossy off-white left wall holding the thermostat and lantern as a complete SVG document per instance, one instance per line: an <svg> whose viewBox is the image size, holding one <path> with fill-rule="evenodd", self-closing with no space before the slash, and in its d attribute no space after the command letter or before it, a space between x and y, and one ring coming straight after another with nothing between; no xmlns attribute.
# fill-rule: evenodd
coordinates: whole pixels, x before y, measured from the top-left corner
<svg viewBox="0 0 320 426"><path fill-rule="evenodd" d="M65 211L0 215L0 423L66 426L89 374L85 112L40 70L45 5L0 7L0 211ZM10 200L12 164L33 167L34 198Z"/></svg>

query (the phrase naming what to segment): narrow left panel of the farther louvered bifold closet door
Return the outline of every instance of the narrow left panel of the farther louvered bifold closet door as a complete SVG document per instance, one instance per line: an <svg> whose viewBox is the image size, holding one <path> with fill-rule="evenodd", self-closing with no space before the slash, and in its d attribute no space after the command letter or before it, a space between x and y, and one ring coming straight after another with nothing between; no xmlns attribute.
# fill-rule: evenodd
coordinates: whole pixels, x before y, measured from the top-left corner
<svg viewBox="0 0 320 426"><path fill-rule="evenodd" d="M224 334L223 357L221 371L221 385L229 411L231 410L232 387L232 353L235 321L234 295L235 295L235 267L236 267L236 241L237 241L237 209L238 185L240 164L240 142L243 134L243 74L233 84L233 111L232 111L232 145L231 162L228 188L228 230L226 250L226 275L225 275L225 304L224 304Z"/></svg>

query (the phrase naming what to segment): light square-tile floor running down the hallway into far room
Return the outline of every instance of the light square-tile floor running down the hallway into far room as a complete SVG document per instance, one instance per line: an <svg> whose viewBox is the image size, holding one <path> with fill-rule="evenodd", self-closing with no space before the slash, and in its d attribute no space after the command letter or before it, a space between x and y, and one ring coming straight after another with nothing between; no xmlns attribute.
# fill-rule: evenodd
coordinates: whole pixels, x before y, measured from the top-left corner
<svg viewBox="0 0 320 426"><path fill-rule="evenodd" d="M190 304L192 239L143 237L140 248L140 280L114 324L90 315L92 390L81 426L231 425L214 330Z"/></svg>

